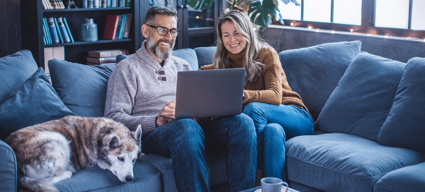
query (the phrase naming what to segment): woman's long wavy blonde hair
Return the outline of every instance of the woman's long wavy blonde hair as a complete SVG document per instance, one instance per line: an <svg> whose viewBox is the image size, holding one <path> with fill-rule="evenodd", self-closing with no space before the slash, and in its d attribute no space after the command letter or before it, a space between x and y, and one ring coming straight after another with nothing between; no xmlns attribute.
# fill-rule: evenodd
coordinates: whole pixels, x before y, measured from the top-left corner
<svg viewBox="0 0 425 192"><path fill-rule="evenodd" d="M214 55L213 66L215 69L230 68L230 58L227 56L227 49L224 47L221 37L221 25L227 22L234 23L238 33L246 40L246 50L242 61L242 66L246 69L245 84L254 82L257 80L261 68L264 66L263 63L255 59L259 56L260 49L269 46L269 44L255 32L254 26L248 19L248 16L239 11L231 10L226 14L222 14L217 19L217 52Z"/></svg>

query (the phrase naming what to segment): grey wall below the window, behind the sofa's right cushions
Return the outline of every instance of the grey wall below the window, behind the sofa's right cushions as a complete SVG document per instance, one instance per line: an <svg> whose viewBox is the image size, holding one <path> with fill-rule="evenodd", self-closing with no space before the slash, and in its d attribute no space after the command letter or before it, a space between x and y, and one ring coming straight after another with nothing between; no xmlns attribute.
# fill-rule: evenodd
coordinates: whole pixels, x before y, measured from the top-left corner
<svg viewBox="0 0 425 192"><path fill-rule="evenodd" d="M339 41L360 40L362 51L379 55L392 60L407 63L412 57L425 57L425 42L421 40L405 40L402 37L388 37L382 35L357 34L351 32L334 32L329 30L306 29L300 27L272 25L260 32L276 51L298 49Z"/></svg>

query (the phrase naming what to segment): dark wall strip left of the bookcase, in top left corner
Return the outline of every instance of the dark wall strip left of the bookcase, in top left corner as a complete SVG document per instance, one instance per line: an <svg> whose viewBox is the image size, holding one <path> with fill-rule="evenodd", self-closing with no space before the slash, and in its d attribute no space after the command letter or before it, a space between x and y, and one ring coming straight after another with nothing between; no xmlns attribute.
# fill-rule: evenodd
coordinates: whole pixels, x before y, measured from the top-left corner
<svg viewBox="0 0 425 192"><path fill-rule="evenodd" d="M20 0L0 0L0 57L22 50Z"/></svg>

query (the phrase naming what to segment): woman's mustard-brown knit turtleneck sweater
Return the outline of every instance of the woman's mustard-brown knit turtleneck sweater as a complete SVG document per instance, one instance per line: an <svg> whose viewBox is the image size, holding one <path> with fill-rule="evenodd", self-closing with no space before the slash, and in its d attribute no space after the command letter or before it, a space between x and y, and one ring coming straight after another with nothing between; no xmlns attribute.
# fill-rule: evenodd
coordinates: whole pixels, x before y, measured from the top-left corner
<svg viewBox="0 0 425 192"><path fill-rule="evenodd" d="M230 68L243 68L242 62L245 52L246 49L238 54L227 51L227 56L230 58ZM307 110L300 95L293 92L289 87L278 53L272 47L263 47L255 60L263 63L264 66L260 69L260 75L255 81L245 84L244 106L248 103L260 102L272 105L294 105ZM215 69L215 66L211 64L199 69Z"/></svg>

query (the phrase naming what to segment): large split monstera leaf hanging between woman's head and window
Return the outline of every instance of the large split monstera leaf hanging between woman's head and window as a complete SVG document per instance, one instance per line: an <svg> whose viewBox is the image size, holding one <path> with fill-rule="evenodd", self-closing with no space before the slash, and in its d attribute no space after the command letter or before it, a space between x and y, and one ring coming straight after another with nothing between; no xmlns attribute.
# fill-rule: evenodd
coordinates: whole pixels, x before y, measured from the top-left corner
<svg viewBox="0 0 425 192"><path fill-rule="evenodd" d="M263 0L263 3L260 1L250 3L248 16L254 24L267 27L272 23L272 19L276 18L277 6L278 1L276 0Z"/></svg>

